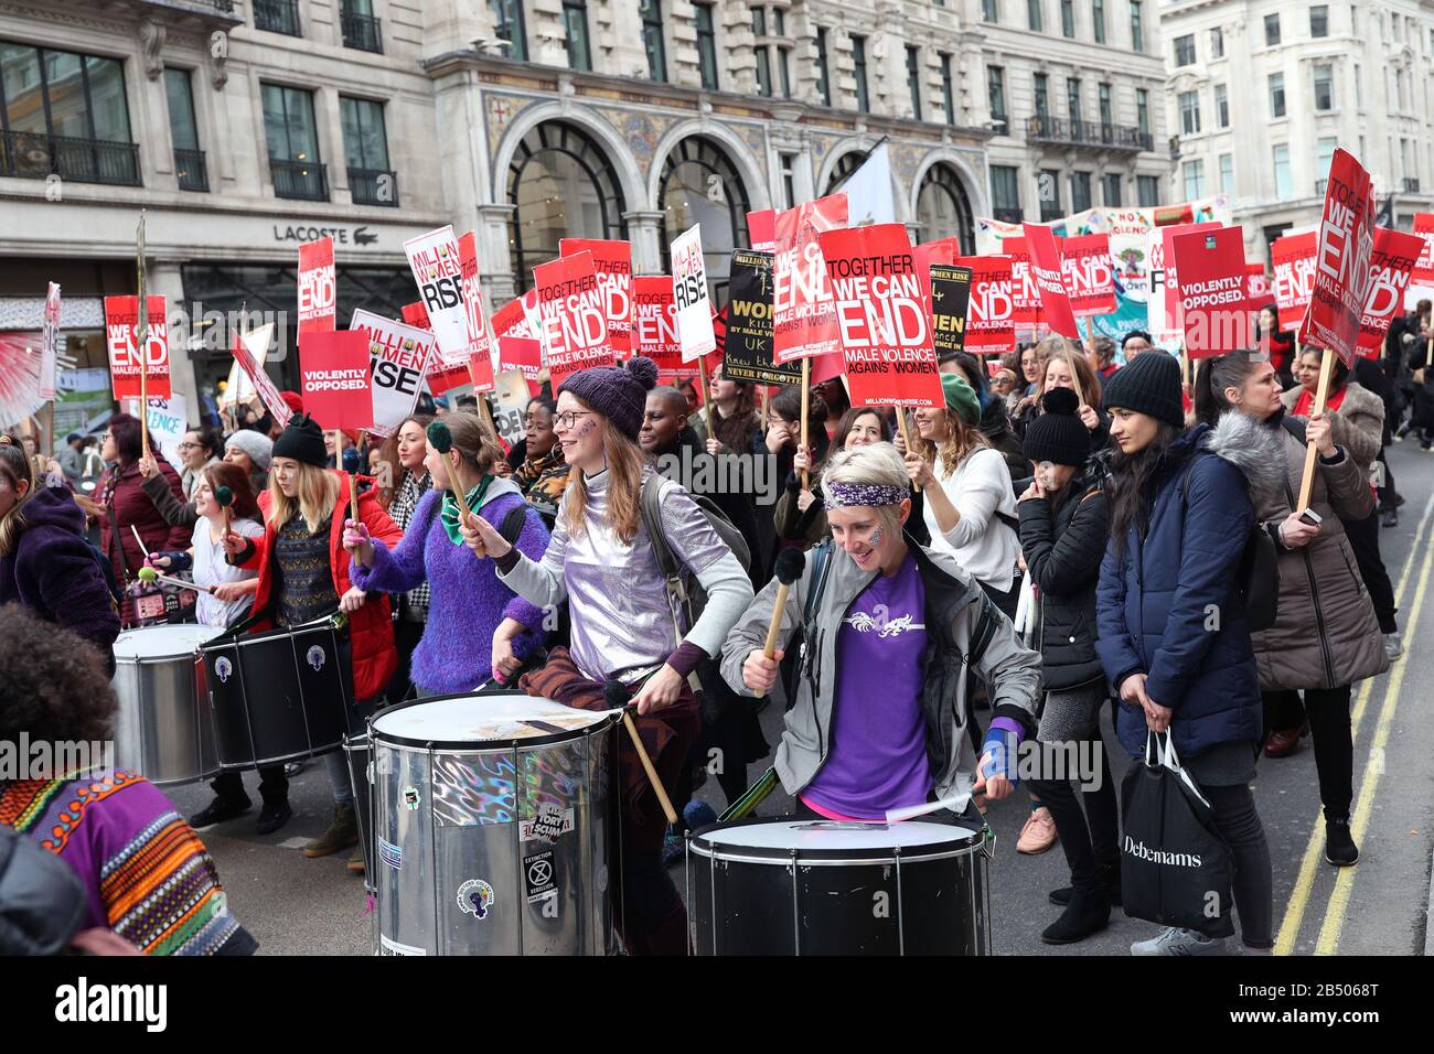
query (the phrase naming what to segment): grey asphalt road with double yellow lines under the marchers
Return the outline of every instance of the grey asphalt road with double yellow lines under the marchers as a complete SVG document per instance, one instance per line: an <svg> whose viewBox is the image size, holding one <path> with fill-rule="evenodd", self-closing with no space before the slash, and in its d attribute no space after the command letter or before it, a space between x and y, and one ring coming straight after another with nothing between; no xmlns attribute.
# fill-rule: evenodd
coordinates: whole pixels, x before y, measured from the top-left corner
<svg viewBox="0 0 1434 1054"><path fill-rule="evenodd" d="M1381 532L1384 561L1395 584L1405 655L1390 673L1355 691L1355 807L1354 833L1361 849L1358 866L1335 869L1324 860L1324 823L1314 753L1304 749L1289 759L1262 759L1256 802L1269 839L1275 876L1276 951L1281 954L1423 954L1427 941L1434 849L1434 674L1421 658L1434 650L1434 612L1428 559L1434 535L1434 455L1412 442L1388 452L1400 490L1407 498L1400 525ZM767 739L780 736L782 707L761 716ZM1106 728L1116 779L1127 766L1114 734ZM766 761L751 766L760 774ZM247 777L251 793L252 776ZM780 792L779 792L780 794ZM718 810L716 780L700 796ZM192 813L208 802L202 784L171 792L176 806ZM257 793L254 794L257 799ZM1117 912L1101 934L1053 948L1040 932L1058 915L1047 902L1051 889L1068 883L1065 859L1057 845L1041 856L1015 853L1025 822L1024 794L994 803L991 823L997 856L991 869L994 945L998 954L1124 955L1131 941L1156 926ZM235 915L261 942L261 954L367 954L371 916L366 916L361 882L348 875L346 855L308 860L300 846L323 830L331 815L328 779L321 761L308 763L291 787L294 819L280 832L258 837L252 813L205 829L229 891ZM789 800L769 799L763 815L777 815ZM674 869L681 888L681 868Z"/></svg>

